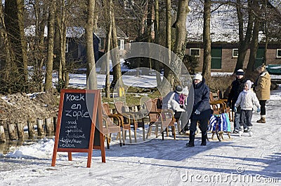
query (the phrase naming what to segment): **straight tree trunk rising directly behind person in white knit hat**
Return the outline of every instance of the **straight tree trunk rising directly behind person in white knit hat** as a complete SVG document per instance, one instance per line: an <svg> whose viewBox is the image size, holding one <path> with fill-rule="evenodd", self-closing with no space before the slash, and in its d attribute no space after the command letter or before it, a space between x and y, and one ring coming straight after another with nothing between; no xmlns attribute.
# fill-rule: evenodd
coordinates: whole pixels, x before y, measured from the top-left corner
<svg viewBox="0 0 281 186"><path fill-rule="evenodd" d="M203 45L204 45L204 62L202 76L208 81L211 78L211 0L204 0L204 28L203 28Z"/></svg>

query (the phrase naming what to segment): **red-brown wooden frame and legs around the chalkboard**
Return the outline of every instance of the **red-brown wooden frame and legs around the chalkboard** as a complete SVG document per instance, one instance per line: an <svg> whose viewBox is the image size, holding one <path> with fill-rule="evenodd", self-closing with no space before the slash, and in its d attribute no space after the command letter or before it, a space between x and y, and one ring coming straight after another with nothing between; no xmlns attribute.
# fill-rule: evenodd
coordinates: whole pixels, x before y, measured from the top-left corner
<svg viewBox="0 0 281 186"><path fill-rule="evenodd" d="M80 94L93 94L93 114L91 118L91 132L89 137L89 148L58 148L58 143L60 139L60 126L63 118L63 104L65 99L65 94L67 93L80 93ZM86 101L86 100L85 100ZM91 159L93 154L93 149L101 150L102 162L105 163L105 145L103 133L100 131L103 129L103 118L102 118L102 107L101 107L101 96L100 90L61 90L60 91L60 106L58 110L58 122L55 131L55 144L53 148L53 159L51 166L55 166L55 161L57 157L57 152L68 152L68 160L72 161L72 152L88 152L87 167L91 167ZM98 129L96 123L99 124ZM98 131L96 131L98 130ZM96 133L98 132L98 133ZM94 141L95 133L99 134L100 143L95 145Z"/></svg>

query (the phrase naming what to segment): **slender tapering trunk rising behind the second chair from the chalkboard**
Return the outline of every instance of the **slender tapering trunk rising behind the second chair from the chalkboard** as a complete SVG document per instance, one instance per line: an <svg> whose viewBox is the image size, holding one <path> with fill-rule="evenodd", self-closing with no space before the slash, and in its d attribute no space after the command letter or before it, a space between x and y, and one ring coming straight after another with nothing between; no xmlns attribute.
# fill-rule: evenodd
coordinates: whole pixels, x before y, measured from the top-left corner
<svg viewBox="0 0 281 186"><path fill-rule="evenodd" d="M113 3L111 5L113 7ZM115 86L118 80L118 87L124 87L124 83L122 80L122 72L121 72L121 64L120 64L120 57L119 57L119 50L118 50L118 40L117 40L117 27L115 24L115 10L112 8L111 13L111 20L112 20L112 45L115 48L112 57L112 66L113 67L113 80L111 85Z"/></svg>

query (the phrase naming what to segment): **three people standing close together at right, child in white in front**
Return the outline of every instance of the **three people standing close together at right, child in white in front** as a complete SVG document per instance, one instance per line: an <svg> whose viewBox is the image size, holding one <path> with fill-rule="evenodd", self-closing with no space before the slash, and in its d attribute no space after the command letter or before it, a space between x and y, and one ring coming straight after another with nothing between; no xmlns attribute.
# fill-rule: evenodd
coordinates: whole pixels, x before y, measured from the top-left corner
<svg viewBox="0 0 281 186"><path fill-rule="evenodd" d="M256 78L254 86L252 86L251 80L244 76L242 69L236 71L236 78L231 84L227 104L235 111L233 131L235 134L251 131L253 105L256 105L257 112L261 112L261 119L256 122L266 122L266 101L270 99L271 79L264 64L259 66L256 71L259 72L259 77Z"/></svg>

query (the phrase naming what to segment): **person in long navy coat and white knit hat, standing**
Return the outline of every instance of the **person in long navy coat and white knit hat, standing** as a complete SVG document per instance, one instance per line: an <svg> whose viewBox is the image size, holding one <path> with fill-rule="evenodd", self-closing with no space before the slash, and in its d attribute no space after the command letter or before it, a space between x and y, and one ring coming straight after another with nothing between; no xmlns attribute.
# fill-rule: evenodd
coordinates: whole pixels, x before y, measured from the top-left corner
<svg viewBox="0 0 281 186"><path fill-rule="evenodd" d="M207 129L209 124L209 118L211 115L211 106L209 103L210 90L205 84L205 79L202 78L200 73L195 74L193 78L194 88L194 103L192 113L190 115L190 136L189 142L186 143L188 148L194 147L195 131L197 129L197 122L199 122L199 128L202 133L201 145L207 143Z"/></svg>

